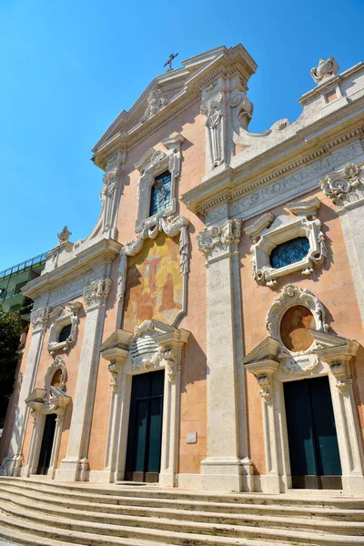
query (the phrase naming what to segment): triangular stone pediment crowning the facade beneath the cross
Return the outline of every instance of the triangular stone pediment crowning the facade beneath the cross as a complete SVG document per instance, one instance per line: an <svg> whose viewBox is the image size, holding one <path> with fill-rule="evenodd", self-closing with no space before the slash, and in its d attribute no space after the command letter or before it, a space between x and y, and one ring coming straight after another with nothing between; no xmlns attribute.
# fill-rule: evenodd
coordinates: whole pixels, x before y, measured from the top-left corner
<svg viewBox="0 0 364 546"><path fill-rule="evenodd" d="M141 120L143 120L143 116L147 110L148 97L153 92L160 92L163 97L163 106L159 107L157 111L159 115L159 112L162 114L163 111L173 107L178 99L185 96L189 91L196 91L197 81L200 78L203 79L206 77L212 66L215 67L221 62L229 64L238 63L241 66L241 73L247 81L257 69L254 60L240 44L230 48L222 45L202 55L193 56L182 61L181 67L168 70L164 74L155 77L141 96L137 98L134 105L128 111L122 110L120 112L115 121L96 143L96 146L92 150L94 154L96 155L101 151L106 144L114 142L117 137L134 135L138 128L144 125L146 120ZM156 116L150 116L150 119Z"/></svg>

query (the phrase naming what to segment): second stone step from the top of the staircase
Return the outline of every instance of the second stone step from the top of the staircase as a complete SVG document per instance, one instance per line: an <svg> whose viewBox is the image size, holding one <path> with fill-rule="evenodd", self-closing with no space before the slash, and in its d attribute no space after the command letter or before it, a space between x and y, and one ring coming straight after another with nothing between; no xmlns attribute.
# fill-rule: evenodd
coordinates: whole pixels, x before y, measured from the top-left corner
<svg viewBox="0 0 364 546"><path fill-rule="evenodd" d="M25 499L31 499L32 501L35 501L35 502L38 502L35 497L34 497L34 494L30 493L28 490L20 490L20 491L14 491L13 489L11 488L1 488L1 491L5 491L5 493L7 494L11 494L11 495L15 495L16 497L20 497L20 498L25 498ZM153 513L153 512L157 512L157 511L160 511L160 507L151 507L151 506L139 506L139 505L123 505L123 504L112 504L112 503L106 503L106 502L95 502L94 500L92 501L92 503L90 503L90 499L87 497L85 497L85 501L84 500L75 500L75 499L70 499L70 500L64 500L64 499L60 499L59 497L55 498L55 497L52 497L50 495L42 495L42 500L44 501L47 501L48 503L50 504L55 504L56 506L63 506L63 505L72 505L73 507L75 507L76 505L78 505L80 507L79 510L82 510L83 507L86 507L88 510L91 511L91 507L92 507L92 511L101 511L101 512L107 512L107 510L114 510L114 511L147 511L147 512L150 512L150 513ZM192 504L191 502L188 502L188 505ZM199 506L199 505L207 505L207 503L196 503L195 506ZM327 509L327 508L317 508L317 509L314 509L314 508L308 508L308 507L292 507L292 506L288 506L288 507L285 507L284 510L282 511L282 508L281 507L278 507L278 506L269 506L268 504L232 504L230 502L227 502L227 503L220 503L220 504L215 504L215 503L209 503L208 504L209 508L215 508L215 509L224 509L224 508L236 508L237 510L240 508L242 511L246 511L248 509L248 511L273 511L273 512L278 512L279 516L278 517L281 517L281 514L283 512L287 512L287 517L297 517L298 516L298 513L299 512L302 512L301 514L301 517L302 518L306 518L308 520L310 519L313 519L314 517L317 517L318 515L320 516L328 516L329 520L330 521L347 521L347 522L351 522L351 521L354 521L354 522L361 522L363 521L364 522L364 510L363 511L359 511L359 510L339 510L339 511L332 511L332 509ZM191 515L191 516L194 516L194 515L203 515L203 516L206 516L206 517L220 517L220 518L240 518L241 516L247 516L248 514L246 513L237 513L237 512L224 512L224 511L218 511L218 512L214 512L214 511L197 511L197 510L186 510L185 508L183 508L183 505L181 506L181 508L178 510L177 508L168 508L168 507L163 507L163 511L164 513L169 513L171 515L177 515L177 514L186 514L186 515ZM107 513L112 513L112 512L107 512ZM129 514L129 515L133 515L133 514ZM137 514L136 514L137 515ZM273 514L272 517L274 517L276 514ZM264 515L266 517L266 515ZM312 518L309 518L308 516L312 516ZM335 516L335 519L334 520L331 520L332 516ZM342 516L344 518L344 520L339 520L339 516ZM361 520L350 520L350 519L347 519L347 516L361 516ZM321 521L321 520L320 520ZM325 519L322 519L322 521L325 521Z"/></svg>

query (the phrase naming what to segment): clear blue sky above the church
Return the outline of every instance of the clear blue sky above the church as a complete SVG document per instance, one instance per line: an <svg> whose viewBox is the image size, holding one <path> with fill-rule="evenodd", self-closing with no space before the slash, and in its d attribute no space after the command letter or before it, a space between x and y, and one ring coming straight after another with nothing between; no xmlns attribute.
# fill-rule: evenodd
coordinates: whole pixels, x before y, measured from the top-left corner
<svg viewBox="0 0 364 546"><path fill-rule="evenodd" d="M319 57L363 60L364 1L0 0L0 270L85 238L100 209L91 148L170 53L243 44L258 63L249 129L293 121Z"/></svg>

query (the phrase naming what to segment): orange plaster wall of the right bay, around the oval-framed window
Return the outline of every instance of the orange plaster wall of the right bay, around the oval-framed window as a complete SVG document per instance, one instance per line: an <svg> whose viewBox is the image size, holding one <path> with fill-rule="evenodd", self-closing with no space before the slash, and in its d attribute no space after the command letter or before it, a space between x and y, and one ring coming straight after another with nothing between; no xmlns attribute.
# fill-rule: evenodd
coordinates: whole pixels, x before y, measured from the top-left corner
<svg viewBox="0 0 364 546"><path fill-rule="evenodd" d="M364 345L364 332L361 326L359 305L340 219L335 206L329 198L324 199L321 192L312 192L300 198L314 196L319 197L322 202L318 217L322 222L322 230L326 236L329 256L322 266L315 267L315 273L309 278L304 278L300 273L295 273L278 279L278 285L273 290L268 287L258 286L251 274L251 239L243 230L240 241L240 256L245 354L248 354L250 350L257 347L258 343L267 337L265 319L268 309L273 299L281 294L283 286L289 283L295 284L299 288L308 288L319 298L327 309L327 319L333 333L344 338L356 339L361 346ZM278 216L284 214L285 210L284 207L276 207L271 212ZM248 227L256 219L257 217L249 219L244 227ZM358 378L354 391L359 406L361 426L364 427L364 349L362 347L359 349L354 364L353 375ZM266 470L258 382L250 373L246 373L246 380L250 457L255 465L255 472L264 474Z"/></svg>

